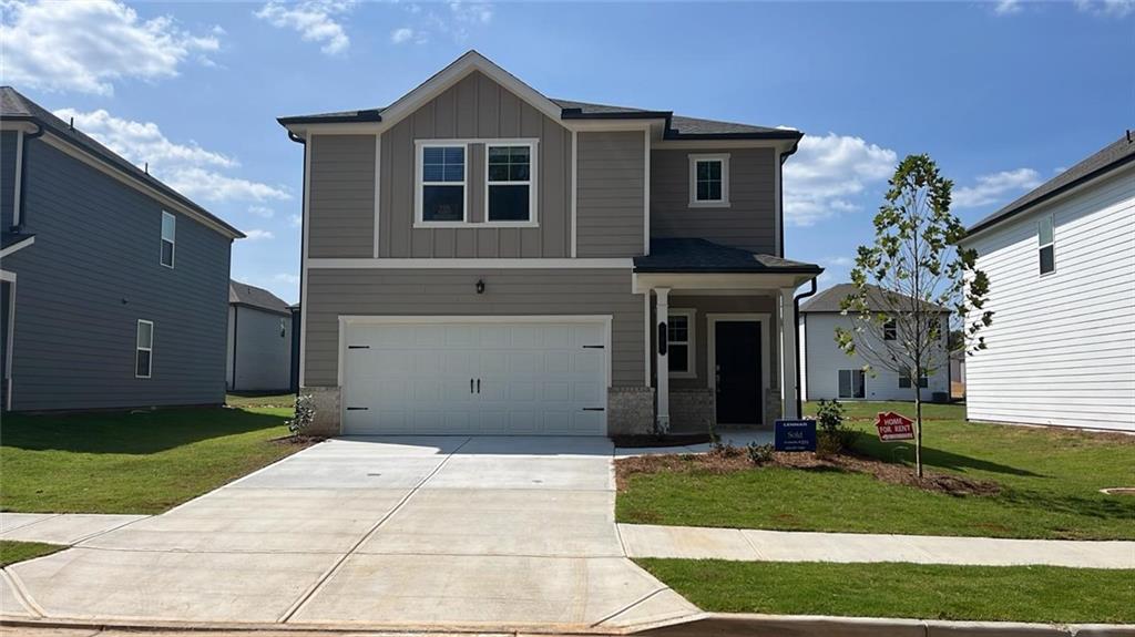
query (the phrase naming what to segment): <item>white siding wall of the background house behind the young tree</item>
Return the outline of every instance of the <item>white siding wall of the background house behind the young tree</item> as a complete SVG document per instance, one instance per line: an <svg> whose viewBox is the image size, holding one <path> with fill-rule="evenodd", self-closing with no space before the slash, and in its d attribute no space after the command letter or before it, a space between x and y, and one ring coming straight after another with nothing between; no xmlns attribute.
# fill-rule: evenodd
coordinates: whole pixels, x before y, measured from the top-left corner
<svg viewBox="0 0 1135 637"><path fill-rule="evenodd" d="M807 312L800 314L800 325L804 338L801 347L801 384L806 400L903 400L914 402L914 388L900 388L899 374L873 366L874 373L864 374L864 398L850 399L840 397L840 370L861 370L868 359L859 354L848 356L835 342L835 328L855 329L855 318L842 316L834 312ZM949 325L949 317L942 321ZM926 379L928 387L919 391L923 400L932 400L935 393L950 391L950 365L945 350L943 330L942 349L936 353L938 371ZM880 349L884 346L880 342Z"/></svg>

